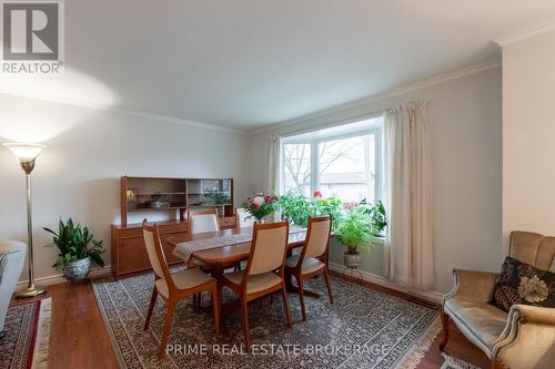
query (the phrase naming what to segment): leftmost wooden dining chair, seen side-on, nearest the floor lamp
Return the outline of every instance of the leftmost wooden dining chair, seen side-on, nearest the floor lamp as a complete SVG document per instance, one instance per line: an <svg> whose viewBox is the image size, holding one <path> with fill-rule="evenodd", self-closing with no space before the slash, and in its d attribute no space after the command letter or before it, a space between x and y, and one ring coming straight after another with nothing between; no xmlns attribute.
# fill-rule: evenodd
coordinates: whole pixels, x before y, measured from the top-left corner
<svg viewBox="0 0 555 369"><path fill-rule="evenodd" d="M170 273L165 255L160 242L160 230L158 225L149 226L147 219L142 222L144 245L147 246L147 254L149 260L154 269L154 288L152 289L152 297L150 299L149 311L144 321L144 330L149 328L152 310L157 304L157 297L160 295L168 304L168 311L165 314L162 337L160 339L160 349L158 352L159 358L164 353L164 347L170 337L170 329L173 321L173 312L179 301L188 296L195 295L201 291L209 291L212 296L213 315L214 315L214 332L220 334L220 312L219 312L219 290L216 279L210 277L201 268L185 269L174 274Z"/></svg>

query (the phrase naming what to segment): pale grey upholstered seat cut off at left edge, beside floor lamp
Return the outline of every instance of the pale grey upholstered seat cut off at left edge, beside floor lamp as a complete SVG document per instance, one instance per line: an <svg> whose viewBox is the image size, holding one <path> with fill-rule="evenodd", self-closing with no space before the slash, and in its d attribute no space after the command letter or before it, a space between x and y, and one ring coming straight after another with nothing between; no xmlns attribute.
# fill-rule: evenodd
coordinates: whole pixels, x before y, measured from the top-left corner
<svg viewBox="0 0 555 369"><path fill-rule="evenodd" d="M23 243L0 239L0 338L4 336L6 315L23 268L26 250Z"/></svg>

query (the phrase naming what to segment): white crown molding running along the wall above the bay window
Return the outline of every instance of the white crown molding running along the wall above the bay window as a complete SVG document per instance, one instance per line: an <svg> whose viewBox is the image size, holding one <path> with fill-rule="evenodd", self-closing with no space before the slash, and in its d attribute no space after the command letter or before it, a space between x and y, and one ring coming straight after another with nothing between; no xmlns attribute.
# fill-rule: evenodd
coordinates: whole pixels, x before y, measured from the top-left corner
<svg viewBox="0 0 555 369"><path fill-rule="evenodd" d="M452 71L448 73L437 74L437 75L430 78L430 79L426 79L426 80L405 84L403 86L400 86L400 88L396 88L393 90L389 90L389 91L385 91L382 93L373 94L373 95L357 99L357 100L354 100L354 101L351 101L351 102L347 102L344 104L340 104L340 105L336 105L333 107L324 109L324 110L321 110L321 111L317 111L317 112L314 112L311 114L295 117L293 120L272 124L272 125L269 125L269 126L255 130L255 131L249 131L248 133L249 134L259 134L259 133L275 130L278 127L286 127L290 125L295 125L295 124L303 123L303 122L311 121L311 120L315 120L319 117L324 117L326 115L335 114L335 113L343 112L343 111L346 111L350 109L356 109L356 107L360 107L360 106L363 106L366 104L371 104L371 103L375 103L375 102L379 102L379 101L382 101L385 99L400 96L400 95L403 95L403 94L406 94L406 93L410 93L413 91L422 90L422 89L430 88L430 86L433 86L436 84L442 84L445 82L450 82L453 80L457 80L461 78L473 75L476 73L485 72L485 71L488 71L491 69L500 68L501 64L502 64L501 60L494 60L494 61L488 61L485 63L474 64L474 65L462 68L462 69Z"/></svg>

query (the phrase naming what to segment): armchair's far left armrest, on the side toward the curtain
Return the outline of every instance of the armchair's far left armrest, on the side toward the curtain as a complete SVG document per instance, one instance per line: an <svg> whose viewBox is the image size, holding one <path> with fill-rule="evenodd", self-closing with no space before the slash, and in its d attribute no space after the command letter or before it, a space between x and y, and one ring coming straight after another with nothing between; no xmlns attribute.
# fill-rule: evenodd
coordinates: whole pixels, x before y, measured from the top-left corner
<svg viewBox="0 0 555 369"><path fill-rule="evenodd" d="M452 297L464 296L465 299L476 303L488 303L493 297L493 288L498 274L490 271L453 269L455 285L451 293L443 297L443 304Z"/></svg>

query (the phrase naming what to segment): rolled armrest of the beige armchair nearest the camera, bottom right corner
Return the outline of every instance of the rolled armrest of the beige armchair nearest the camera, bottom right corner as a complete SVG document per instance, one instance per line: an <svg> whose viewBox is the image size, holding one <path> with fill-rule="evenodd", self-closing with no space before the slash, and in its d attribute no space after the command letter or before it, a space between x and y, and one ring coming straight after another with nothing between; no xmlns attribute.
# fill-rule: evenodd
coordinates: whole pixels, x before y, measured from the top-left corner
<svg viewBox="0 0 555 369"><path fill-rule="evenodd" d="M492 358L509 368L552 368L554 342L555 308L513 305Z"/></svg>

